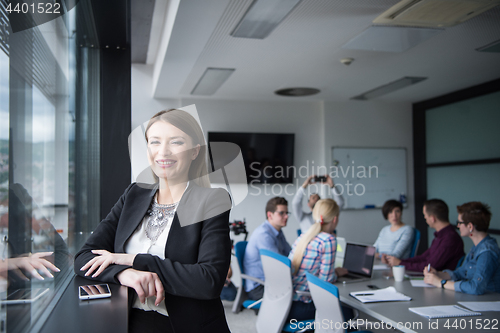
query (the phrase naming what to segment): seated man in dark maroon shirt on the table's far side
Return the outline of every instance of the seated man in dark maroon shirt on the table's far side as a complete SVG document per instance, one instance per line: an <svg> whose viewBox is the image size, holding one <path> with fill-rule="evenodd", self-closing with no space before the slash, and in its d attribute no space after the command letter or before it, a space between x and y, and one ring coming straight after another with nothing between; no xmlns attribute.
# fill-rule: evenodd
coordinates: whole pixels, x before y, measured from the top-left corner
<svg viewBox="0 0 500 333"><path fill-rule="evenodd" d="M419 256L401 260L396 257L382 257L391 266L403 265L408 271L421 272L431 264L438 271L454 270L464 256L464 242L448 220L448 205L439 199L424 202L424 217L429 227L436 230L431 246Z"/></svg>

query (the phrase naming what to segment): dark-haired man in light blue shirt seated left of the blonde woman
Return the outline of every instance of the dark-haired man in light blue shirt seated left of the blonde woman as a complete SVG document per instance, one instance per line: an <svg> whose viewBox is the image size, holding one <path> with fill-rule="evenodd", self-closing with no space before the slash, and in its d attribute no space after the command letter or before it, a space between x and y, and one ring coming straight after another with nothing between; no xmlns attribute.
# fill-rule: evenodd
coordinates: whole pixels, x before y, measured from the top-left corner
<svg viewBox="0 0 500 333"><path fill-rule="evenodd" d="M267 220L255 229L247 244L243 260L245 274L264 280L259 252L261 249L288 256L291 248L281 231L281 228L286 227L288 215L288 202L285 198L275 197L267 202ZM247 280L245 290L250 299L258 300L264 295L264 286L254 281Z"/></svg>

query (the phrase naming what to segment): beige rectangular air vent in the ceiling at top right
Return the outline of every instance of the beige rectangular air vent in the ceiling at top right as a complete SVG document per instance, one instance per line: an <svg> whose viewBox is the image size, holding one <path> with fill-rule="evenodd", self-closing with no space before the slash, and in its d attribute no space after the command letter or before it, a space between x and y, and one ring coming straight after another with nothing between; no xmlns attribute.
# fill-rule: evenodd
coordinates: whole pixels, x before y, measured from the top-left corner
<svg viewBox="0 0 500 333"><path fill-rule="evenodd" d="M373 23L412 27L451 27L500 4L500 0L403 0Z"/></svg>

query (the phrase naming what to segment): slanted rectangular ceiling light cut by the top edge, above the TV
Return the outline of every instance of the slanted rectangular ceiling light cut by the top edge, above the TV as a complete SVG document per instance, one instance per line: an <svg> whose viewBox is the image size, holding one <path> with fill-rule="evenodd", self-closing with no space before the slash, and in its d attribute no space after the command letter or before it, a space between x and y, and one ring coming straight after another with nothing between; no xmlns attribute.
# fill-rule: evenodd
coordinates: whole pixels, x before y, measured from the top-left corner
<svg viewBox="0 0 500 333"><path fill-rule="evenodd" d="M300 0L255 0L231 36L264 39L299 2Z"/></svg>

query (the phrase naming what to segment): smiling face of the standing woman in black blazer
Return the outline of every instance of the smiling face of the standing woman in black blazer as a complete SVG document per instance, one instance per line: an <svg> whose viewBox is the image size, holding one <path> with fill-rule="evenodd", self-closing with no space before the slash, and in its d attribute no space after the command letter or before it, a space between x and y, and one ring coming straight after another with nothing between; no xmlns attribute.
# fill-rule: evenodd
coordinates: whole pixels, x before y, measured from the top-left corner
<svg viewBox="0 0 500 333"><path fill-rule="evenodd" d="M161 120L149 127L147 138L148 160L156 176L168 182L187 182L200 145L193 146L189 135Z"/></svg>

